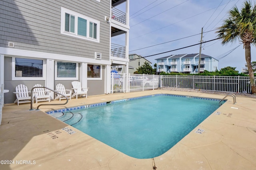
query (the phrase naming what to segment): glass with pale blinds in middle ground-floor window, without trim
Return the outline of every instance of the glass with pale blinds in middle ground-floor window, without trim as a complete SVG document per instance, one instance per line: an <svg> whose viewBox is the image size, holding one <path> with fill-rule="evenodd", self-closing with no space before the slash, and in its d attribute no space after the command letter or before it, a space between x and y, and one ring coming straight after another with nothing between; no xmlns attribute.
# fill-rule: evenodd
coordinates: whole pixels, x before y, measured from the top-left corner
<svg viewBox="0 0 256 170"><path fill-rule="evenodd" d="M76 63L58 61L57 77L76 77Z"/></svg>

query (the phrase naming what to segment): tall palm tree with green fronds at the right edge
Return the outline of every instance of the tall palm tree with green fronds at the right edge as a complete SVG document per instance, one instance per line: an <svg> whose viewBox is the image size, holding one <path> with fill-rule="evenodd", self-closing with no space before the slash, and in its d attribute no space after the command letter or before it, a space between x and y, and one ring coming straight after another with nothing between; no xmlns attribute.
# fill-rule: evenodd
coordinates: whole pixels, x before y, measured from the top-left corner
<svg viewBox="0 0 256 170"><path fill-rule="evenodd" d="M228 19L218 28L218 38L222 44L234 43L239 40L245 49L245 59L252 85L252 93L256 93L256 85L251 64L251 43L256 44L256 5L250 1L245 1L241 12L235 6L229 12Z"/></svg>

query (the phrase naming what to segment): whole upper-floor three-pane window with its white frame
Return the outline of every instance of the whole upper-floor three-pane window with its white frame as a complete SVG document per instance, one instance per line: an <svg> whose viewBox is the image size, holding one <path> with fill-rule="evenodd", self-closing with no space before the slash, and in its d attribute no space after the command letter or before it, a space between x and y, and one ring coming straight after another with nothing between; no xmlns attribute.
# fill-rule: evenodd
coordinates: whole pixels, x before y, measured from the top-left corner
<svg viewBox="0 0 256 170"><path fill-rule="evenodd" d="M61 8L61 34L100 42L99 28L99 21L66 8Z"/></svg>

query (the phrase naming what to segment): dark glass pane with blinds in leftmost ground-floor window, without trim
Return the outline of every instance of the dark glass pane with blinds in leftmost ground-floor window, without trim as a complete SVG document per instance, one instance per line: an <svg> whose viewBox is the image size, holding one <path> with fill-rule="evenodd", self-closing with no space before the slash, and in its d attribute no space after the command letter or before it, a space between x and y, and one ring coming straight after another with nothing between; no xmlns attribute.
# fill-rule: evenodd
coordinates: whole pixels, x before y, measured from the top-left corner
<svg viewBox="0 0 256 170"><path fill-rule="evenodd" d="M15 58L15 77L43 77L43 60Z"/></svg>

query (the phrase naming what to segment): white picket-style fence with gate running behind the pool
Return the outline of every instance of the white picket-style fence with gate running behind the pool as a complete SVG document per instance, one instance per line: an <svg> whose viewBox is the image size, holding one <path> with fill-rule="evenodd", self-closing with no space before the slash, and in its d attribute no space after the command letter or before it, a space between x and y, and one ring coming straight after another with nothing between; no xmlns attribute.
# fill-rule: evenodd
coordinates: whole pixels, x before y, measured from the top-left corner
<svg viewBox="0 0 256 170"><path fill-rule="evenodd" d="M251 93L249 77L111 74L111 93L144 91L158 87Z"/></svg>

